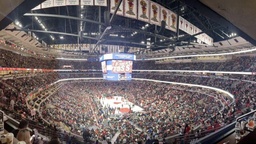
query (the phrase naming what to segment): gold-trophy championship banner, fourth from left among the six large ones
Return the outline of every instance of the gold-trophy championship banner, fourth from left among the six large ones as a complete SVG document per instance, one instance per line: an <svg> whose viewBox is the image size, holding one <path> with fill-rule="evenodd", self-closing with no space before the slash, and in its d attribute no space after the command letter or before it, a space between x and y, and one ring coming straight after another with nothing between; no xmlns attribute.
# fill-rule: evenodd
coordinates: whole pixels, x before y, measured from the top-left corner
<svg viewBox="0 0 256 144"><path fill-rule="evenodd" d="M160 5L150 1L150 23L160 26Z"/></svg>

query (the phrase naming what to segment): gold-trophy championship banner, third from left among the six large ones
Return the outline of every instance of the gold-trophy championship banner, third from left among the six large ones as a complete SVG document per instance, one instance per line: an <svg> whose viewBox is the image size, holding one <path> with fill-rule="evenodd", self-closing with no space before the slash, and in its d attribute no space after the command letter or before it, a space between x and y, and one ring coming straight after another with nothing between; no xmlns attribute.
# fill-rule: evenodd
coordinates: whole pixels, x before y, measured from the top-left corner
<svg viewBox="0 0 256 144"><path fill-rule="evenodd" d="M138 20L149 23L149 0L138 0Z"/></svg>

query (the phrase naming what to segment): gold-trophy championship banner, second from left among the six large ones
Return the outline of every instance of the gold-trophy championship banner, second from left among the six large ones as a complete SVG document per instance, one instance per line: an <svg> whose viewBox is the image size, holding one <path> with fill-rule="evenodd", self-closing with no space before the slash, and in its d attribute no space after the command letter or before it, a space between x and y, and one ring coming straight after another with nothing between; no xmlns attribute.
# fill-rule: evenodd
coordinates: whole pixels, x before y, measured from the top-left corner
<svg viewBox="0 0 256 144"><path fill-rule="evenodd" d="M137 19L137 0L124 1L124 16Z"/></svg>

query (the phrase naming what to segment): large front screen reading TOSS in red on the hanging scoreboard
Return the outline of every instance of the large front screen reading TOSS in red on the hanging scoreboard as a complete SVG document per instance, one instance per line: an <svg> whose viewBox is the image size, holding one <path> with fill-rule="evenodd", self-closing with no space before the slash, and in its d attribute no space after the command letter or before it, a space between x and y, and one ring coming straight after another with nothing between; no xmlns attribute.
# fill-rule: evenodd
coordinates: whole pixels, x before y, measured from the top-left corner
<svg viewBox="0 0 256 144"><path fill-rule="evenodd" d="M132 61L112 60L112 73L132 73Z"/></svg>

